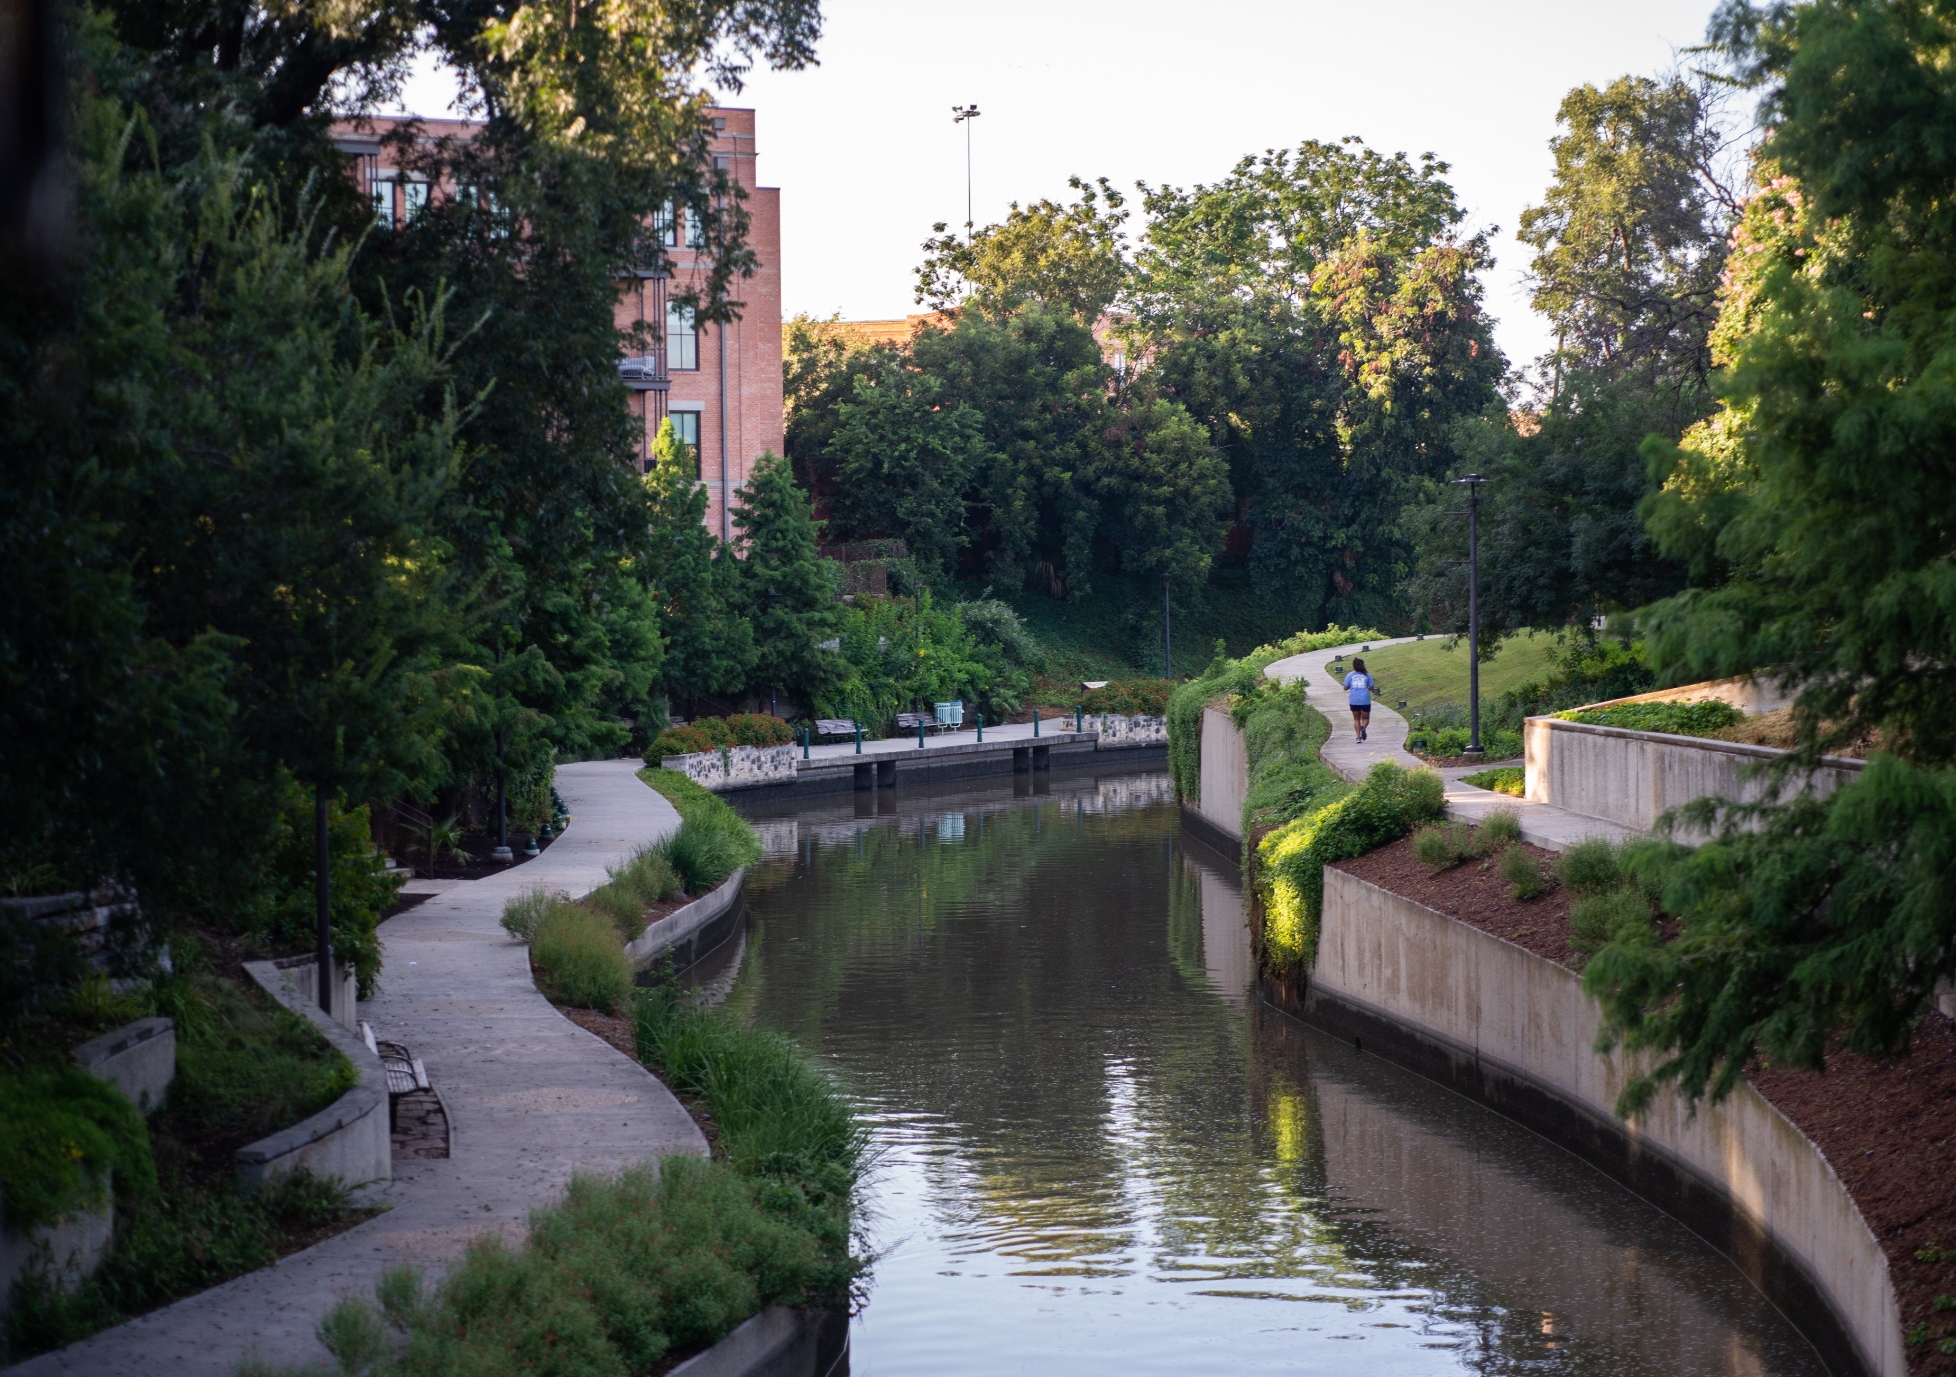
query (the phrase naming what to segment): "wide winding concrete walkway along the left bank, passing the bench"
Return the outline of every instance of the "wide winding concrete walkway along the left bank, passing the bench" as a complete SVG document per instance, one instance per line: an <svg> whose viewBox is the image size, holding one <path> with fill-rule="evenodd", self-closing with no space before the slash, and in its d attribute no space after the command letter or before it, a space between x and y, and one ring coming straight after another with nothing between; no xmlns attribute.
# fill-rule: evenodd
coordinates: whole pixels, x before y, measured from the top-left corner
<svg viewBox="0 0 1956 1377"><path fill-rule="evenodd" d="M381 1267L434 1266L481 1234L522 1236L573 1170L604 1172L667 1152L706 1152L687 1111L642 1066L557 1013L530 980L528 951L499 925L530 886L581 896L679 814L634 778L638 761L557 769L571 812L536 861L458 884L381 925L387 964L360 1005L379 1037L428 1068L452 1131L446 1162L395 1162L378 1191L391 1209L336 1238L10 1373L233 1377L241 1357L331 1363L313 1336L342 1295L372 1293Z"/></svg>

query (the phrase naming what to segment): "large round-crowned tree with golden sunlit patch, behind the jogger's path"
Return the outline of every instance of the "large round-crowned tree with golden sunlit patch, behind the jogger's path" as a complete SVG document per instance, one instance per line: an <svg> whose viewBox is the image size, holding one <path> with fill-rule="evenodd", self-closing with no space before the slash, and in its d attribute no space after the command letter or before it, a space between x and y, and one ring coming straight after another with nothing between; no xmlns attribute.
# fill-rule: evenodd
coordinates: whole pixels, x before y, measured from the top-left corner
<svg viewBox="0 0 1956 1377"><path fill-rule="evenodd" d="M1449 237L1445 170L1305 143L1146 196L1131 354L1209 430L1254 587L1305 624L1402 620L1399 512L1496 395L1487 241Z"/></svg>

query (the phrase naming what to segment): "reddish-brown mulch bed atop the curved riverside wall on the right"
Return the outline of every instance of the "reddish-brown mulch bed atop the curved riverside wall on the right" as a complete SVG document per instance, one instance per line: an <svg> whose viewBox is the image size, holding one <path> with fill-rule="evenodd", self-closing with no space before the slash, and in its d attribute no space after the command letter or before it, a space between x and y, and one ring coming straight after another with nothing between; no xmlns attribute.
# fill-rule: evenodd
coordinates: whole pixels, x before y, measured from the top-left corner
<svg viewBox="0 0 1956 1377"><path fill-rule="evenodd" d="M1492 861L1436 872L1412 855L1412 837L1336 868L1575 964L1563 888L1518 900ZM1956 1021L1925 1015L1909 1056L1829 1052L1825 1072L1753 1066L1747 1080L1819 1146L1882 1242L1903 1330L1921 1334L1907 1350L1909 1373L1956 1377ZM1946 1309L1936 1309L1938 1299Z"/></svg>

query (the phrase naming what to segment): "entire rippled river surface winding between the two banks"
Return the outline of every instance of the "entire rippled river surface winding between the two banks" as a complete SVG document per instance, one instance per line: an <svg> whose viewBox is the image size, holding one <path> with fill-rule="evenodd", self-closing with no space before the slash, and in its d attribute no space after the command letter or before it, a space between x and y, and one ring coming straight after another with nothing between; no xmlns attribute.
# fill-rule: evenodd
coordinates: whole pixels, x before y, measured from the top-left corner
<svg viewBox="0 0 1956 1377"><path fill-rule="evenodd" d="M859 1377L1821 1373L1665 1215L1260 1005L1166 777L878 790L769 843L728 999L872 1109Z"/></svg>

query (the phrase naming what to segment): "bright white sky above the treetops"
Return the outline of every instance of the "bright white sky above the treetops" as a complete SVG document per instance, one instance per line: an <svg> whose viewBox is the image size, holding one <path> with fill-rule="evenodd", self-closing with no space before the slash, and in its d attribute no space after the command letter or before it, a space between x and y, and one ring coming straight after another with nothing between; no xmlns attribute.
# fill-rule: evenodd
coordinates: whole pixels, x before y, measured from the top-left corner
<svg viewBox="0 0 1956 1377"><path fill-rule="evenodd" d="M1129 190L1215 182L1248 153L1361 135L1453 164L1469 225L1500 227L1487 305L1510 364L1549 348L1528 309L1522 209L1549 178L1555 108L1580 82L1655 74L1704 35L1712 0L1078 4L827 0L822 65L755 72L761 184L782 188L788 315L917 311L933 221L964 221L964 127L980 225L1009 201L1072 200L1066 178ZM448 108L422 70L405 106ZM1136 207L1138 219L1138 207ZM1131 221L1133 225L1133 221Z"/></svg>

